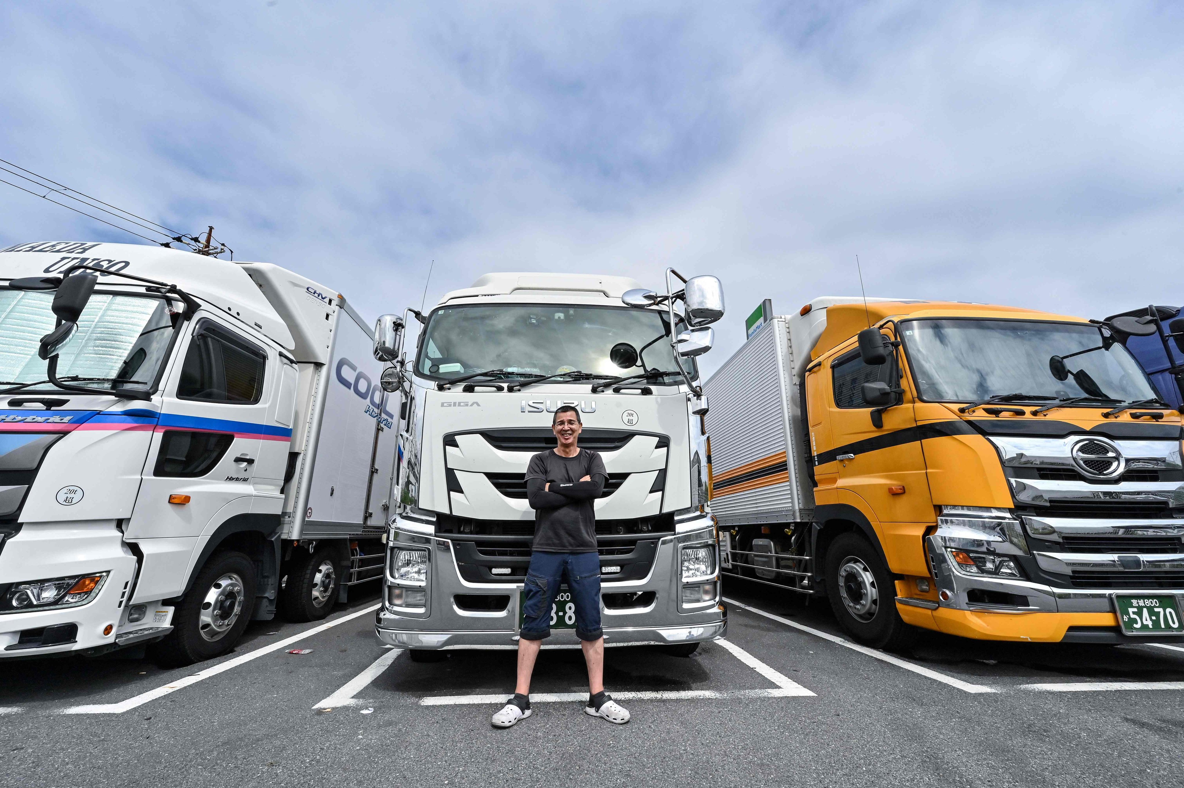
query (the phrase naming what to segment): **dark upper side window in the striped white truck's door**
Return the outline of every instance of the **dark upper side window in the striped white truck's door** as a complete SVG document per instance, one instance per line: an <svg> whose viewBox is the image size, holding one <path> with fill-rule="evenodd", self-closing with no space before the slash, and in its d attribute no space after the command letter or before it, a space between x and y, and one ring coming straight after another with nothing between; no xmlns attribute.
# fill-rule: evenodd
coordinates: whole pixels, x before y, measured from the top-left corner
<svg viewBox="0 0 1184 788"><path fill-rule="evenodd" d="M263 395L268 354L213 321L198 326L176 384L178 399L253 405Z"/></svg>

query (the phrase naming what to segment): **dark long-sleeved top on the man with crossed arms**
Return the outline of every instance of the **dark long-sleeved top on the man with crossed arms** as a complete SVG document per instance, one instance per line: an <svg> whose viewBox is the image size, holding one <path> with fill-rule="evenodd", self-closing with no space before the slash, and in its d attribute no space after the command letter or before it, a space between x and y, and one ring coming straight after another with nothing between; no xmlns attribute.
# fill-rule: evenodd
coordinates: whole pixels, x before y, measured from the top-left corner
<svg viewBox="0 0 1184 788"><path fill-rule="evenodd" d="M591 481L580 481L591 476ZM534 510L534 549L542 552L596 552L596 499L609 474L591 449L565 457L554 449L530 457L527 500ZM545 489L551 483L551 491Z"/></svg>

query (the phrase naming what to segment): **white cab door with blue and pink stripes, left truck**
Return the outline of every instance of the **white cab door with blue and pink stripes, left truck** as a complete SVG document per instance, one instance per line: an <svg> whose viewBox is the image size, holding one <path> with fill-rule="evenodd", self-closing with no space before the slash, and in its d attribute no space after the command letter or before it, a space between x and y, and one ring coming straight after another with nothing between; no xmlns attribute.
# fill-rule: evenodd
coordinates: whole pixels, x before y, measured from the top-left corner
<svg viewBox="0 0 1184 788"><path fill-rule="evenodd" d="M136 600L178 594L214 515L251 512L252 478L268 429L268 352L227 322L194 320L168 372L160 419L127 538L144 568ZM224 511L225 510L225 511Z"/></svg>

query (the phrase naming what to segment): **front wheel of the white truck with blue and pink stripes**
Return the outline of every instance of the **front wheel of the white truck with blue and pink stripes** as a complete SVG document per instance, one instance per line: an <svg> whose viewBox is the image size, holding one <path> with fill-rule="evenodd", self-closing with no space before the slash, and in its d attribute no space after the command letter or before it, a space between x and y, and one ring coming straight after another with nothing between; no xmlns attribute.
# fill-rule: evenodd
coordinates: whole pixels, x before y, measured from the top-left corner
<svg viewBox="0 0 1184 788"><path fill-rule="evenodd" d="M255 562L240 552L215 552L198 571L173 614L173 632L152 647L161 667L182 667L234 647L255 610Z"/></svg>

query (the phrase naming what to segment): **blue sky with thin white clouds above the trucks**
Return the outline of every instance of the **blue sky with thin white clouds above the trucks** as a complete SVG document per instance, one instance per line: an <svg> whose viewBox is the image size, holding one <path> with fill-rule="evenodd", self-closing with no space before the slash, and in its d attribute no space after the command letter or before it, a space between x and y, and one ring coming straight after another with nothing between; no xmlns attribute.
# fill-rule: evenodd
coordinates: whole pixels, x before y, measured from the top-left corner
<svg viewBox="0 0 1184 788"><path fill-rule="evenodd" d="M367 316L491 270L1179 305L1175 2L0 6L0 158ZM131 241L0 184L0 244Z"/></svg>

